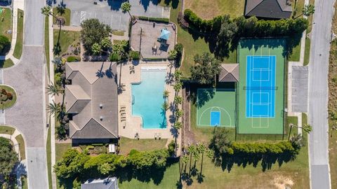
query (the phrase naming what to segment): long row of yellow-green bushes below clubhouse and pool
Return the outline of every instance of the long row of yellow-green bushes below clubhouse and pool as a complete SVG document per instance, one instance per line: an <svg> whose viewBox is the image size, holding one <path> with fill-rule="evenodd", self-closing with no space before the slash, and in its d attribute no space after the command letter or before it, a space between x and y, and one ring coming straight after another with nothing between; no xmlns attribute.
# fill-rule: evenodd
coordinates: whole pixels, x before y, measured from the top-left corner
<svg viewBox="0 0 337 189"><path fill-rule="evenodd" d="M149 169L163 169L169 152L166 149L154 151L132 150L128 155L100 154L91 157L70 149L62 155L54 171L60 179L80 177L101 177L116 174L117 169L131 168L134 172L147 172Z"/></svg>

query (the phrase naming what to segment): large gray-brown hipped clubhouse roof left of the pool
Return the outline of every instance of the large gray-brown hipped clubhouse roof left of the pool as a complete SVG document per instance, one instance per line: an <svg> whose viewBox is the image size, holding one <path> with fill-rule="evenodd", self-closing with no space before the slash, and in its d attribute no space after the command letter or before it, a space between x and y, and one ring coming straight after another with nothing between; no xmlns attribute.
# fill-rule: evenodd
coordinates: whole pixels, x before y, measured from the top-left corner
<svg viewBox="0 0 337 189"><path fill-rule="evenodd" d="M72 114L72 139L118 137L117 66L110 62L68 62L65 109ZM102 106L102 107L101 107Z"/></svg>

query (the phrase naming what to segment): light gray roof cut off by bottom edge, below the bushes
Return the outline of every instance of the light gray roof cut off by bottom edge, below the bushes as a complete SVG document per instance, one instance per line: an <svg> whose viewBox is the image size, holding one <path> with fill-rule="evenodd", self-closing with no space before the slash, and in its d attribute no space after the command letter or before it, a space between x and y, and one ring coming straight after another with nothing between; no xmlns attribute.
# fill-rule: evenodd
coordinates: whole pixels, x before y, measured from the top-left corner
<svg viewBox="0 0 337 189"><path fill-rule="evenodd" d="M118 189L117 178L91 179L81 184L81 189Z"/></svg>

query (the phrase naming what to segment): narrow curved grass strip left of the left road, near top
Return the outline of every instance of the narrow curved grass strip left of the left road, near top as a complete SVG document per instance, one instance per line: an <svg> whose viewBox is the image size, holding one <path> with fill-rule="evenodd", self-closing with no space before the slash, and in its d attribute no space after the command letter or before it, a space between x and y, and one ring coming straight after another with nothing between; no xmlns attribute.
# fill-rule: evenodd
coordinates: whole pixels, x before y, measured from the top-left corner
<svg viewBox="0 0 337 189"><path fill-rule="evenodd" d="M23 43L23 10L18 9L18 32L13 52L13 56L17 59L20 59L22 55L22 43Z"/></svg>

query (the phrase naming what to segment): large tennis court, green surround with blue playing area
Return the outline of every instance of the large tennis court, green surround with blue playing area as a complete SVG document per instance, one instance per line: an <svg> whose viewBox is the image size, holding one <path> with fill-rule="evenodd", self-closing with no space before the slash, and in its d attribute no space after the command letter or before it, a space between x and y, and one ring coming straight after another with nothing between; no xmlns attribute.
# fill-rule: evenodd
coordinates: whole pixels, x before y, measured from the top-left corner
<svg viewBox="0 0 337 189"><path fill-rule="evenodd" d="M284 38L242 39L240 41L238 48L240 78L237 83L238 134L284 133L285 43ZM259 67L260 62L251 62L249 59L268 56L275 56L275 62L272 64L275 66L270 71L272 74L265 71L266 74L260 78L265 68ZM270 70L270 67L267 69ZM252 80L256 83L256 78L261 80L261 84L257 87L250 87ZM272 87L265 88L263 85L265 78L268 80L267 83L272 83ZM251 106L253 108L250 108ZM265 107L263 113L258 112L261 110L260 107Z"/></svg>

